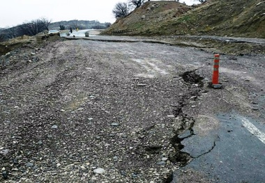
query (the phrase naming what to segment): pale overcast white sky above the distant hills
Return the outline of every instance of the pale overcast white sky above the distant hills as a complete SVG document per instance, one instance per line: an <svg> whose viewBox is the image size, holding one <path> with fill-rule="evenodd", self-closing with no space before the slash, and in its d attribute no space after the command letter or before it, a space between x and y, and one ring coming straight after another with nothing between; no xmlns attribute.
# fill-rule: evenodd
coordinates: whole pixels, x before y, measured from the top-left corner
<svg viewBox="0 0 265 183"><path fill-rule="evenodd" d="M38 18L61 20L98 20L115 22L112 9L127 0L3 0L0 8L0 27L17 26ZM192 5L195 0L184 0ZM183 1L181 1L183 2Z"/></svg>

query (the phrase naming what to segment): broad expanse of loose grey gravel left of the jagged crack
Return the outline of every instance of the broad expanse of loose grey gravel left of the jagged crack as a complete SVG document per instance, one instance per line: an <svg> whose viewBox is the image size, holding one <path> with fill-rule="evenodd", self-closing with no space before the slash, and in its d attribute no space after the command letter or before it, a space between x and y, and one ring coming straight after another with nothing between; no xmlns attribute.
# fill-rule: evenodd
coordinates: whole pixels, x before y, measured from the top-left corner
<svg viewBox="0 0 265 183"><path fill-rule="evenodd" d="M220 130L205 116L234 107L231 88L207 88L212 53L197 49L68 40L29 50L31 62L22 53L1 57L11 60L0 80L6 182L171 182L218 145L207 136L206 148L189 149L199 133ZM198 115L215 125L198 126Z"/></svg>

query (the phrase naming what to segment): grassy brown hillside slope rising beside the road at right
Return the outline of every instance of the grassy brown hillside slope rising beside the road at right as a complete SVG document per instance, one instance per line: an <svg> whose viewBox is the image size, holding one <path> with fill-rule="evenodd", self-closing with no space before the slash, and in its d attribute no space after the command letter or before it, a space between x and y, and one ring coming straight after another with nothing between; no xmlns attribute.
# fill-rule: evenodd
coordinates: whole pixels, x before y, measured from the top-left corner
<svg viewBox="0 0 265 183"><path fill-rule="evenodd" d="M148 1L117 19L108 33L126 35L229 35L265 38L265 1L209 0L197 6Z"/></svg>

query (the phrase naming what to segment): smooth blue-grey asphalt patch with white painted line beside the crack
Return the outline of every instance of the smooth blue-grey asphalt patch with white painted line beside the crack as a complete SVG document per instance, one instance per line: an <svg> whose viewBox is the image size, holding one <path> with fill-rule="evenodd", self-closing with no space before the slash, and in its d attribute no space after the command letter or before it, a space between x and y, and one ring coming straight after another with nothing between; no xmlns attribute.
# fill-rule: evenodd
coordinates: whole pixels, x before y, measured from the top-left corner
<svg viewBox="0 0 265 183"><path fill-rule="evenodd" d="M210 182L264 182L265 136L259 130L264 130L264 125L238 113L216 117L217 129L202 136L197 124L195 136L183 141L183 151L194 159L176 171L173 182L179 182L179 177L190 172L200 173Z"/></svg>

